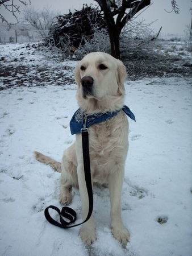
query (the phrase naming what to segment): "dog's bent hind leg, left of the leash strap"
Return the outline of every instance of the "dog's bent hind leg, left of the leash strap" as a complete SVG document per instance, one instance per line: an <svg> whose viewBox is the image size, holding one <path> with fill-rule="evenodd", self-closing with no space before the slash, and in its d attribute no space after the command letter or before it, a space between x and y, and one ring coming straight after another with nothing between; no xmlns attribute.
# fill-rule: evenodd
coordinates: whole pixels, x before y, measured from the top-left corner
<svg viewBox="0 0 192 256"><path fill-rule="evenodd" d="M72 202L72 187L78 187L77 158L74 144L64 152L61 162L60 203Z"/></svg>

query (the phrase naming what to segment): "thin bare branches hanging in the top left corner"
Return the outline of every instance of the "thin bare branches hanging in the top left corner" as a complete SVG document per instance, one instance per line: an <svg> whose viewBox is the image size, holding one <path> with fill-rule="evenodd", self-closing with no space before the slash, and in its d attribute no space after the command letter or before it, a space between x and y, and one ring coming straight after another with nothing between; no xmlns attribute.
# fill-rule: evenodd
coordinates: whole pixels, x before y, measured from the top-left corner
<svg viewBox="0 0 192 256"><path fill-rule="evenodd" d="M28 3L31 5L31 0L27 0ZM18 2L22 5L28 5L27 1L18 0ZM11 25L15 25L19 22L18 14L20 14L20 6L16 5L14 0L0 0L0 9L4 8L6 11L12 13L15 18L15 23L10 23L6 18L5 15L0 13L0 19L2 22L6 22L7 25L10 27Z"/></svg>

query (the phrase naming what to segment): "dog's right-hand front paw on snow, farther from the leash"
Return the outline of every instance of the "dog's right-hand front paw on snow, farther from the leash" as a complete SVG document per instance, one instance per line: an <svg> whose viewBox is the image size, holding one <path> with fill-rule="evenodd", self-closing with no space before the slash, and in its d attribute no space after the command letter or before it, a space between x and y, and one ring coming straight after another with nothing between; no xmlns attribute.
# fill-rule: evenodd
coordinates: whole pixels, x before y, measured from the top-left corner
<svg viewBox="0 0 192 256"><path fill-rule="evenodd" d="M130 232L123 225L115 225L111 228L111 232L120 243L126 245L130 239Z"/></svg>

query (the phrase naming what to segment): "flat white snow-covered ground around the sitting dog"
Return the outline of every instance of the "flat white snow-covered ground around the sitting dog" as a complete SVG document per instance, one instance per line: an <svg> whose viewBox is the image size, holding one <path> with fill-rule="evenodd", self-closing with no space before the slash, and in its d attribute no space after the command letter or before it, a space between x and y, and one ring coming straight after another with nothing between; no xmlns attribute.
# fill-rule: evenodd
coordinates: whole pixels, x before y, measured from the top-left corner
<svg viewBox="0 0 192 256"><path fill-rule="evenodd" d="M0 255L191 255L191 79L127 81L126 92L125 104L136 116L136 123L129 120L122 191L130 242L123 248L112 236L108 189L94 187L97 241L87 248L80 227L64 230L45 220L45 207L62 207L60 174L33 155L37 150L60 161L74 141L69 121L78 108L76 85L53 81L1 91ZM78 189L71 207L81 221Z"/></svg>

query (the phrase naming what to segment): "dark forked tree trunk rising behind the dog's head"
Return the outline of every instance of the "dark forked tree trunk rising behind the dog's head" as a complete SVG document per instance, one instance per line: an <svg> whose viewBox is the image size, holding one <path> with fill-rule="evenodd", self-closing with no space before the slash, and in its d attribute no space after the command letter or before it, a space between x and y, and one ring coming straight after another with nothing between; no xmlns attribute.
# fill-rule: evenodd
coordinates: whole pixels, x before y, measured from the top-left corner
<svg viewBox="0 0 192 256"><path fill-rule="evenodd" d="M151 0L94 0L103 11L108 27L111 55L120 58L120 33L136 13L151 4Z"/></svg>

